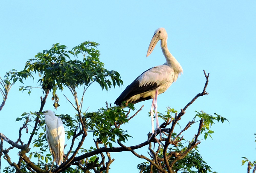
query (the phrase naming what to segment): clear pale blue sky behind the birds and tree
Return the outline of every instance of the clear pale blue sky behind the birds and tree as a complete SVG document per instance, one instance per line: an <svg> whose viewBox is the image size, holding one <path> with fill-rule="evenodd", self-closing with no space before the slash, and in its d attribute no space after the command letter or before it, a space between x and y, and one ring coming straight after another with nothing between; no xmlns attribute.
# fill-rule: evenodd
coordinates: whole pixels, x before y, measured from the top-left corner
<svg viewBox="0 0 256 173"><path fill-rule="evenodd" d="M108 70L121 74L124 86L102 91L97 85L87 91L84 111L96 111L121 94L139 74L165 62L160 45L146 58L150 40L157 28L166 28L168 48L183 67L183 75L158 99L158 111L167 106L180 110L202 91L203 69L210 73L209 95L189 107L181 125L192 119L194 111L218 113L230 124L215 124L212 139L201 141L199 151L204 160L219 173L242 173L241 157L256 160L255 65L256 65L256 1L194 0L194 1L1 1L0 2L0 76L15 68L22 70L26 60L54 43L68 48L86 40L99 43L101 60ZM36 86L36 82L26 83ZM23 112L38 111L41 91L31 96L12 88L5 107L0 111L0 132L16 140ZM58 93L58 95L62 95ZM63 97L58 114L75 111ZM133 136L127 145L146 140L151 130L151 100L138 103L143 111L128 125ZM52 109L48 100L45 109ZM190 140L195 130L186 133ZM177 129L179 130L179 129ZM201 136L203 139L203 136ZM89 140L89 139L87 139ZM5 144L5 146L7 146ZM89 147L85 142L84 147ZM138 150L146 155L146 150ZM12 153L17 158L17 153ZM137 172L136 165L144 160L131 153L115 153L111 172ZM6 162L2 159L2 169ZM17 162L13 159L12 162ZM125 169L123 169L125 167Z"/></svg>

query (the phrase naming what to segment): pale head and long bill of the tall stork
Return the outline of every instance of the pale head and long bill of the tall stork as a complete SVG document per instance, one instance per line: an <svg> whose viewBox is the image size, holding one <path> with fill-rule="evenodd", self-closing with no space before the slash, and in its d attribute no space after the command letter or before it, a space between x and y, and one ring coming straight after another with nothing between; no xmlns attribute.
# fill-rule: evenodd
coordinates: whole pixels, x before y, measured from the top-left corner
<svg viewBox="0 0 256 173"><path fill-rule="evenodd" d="M153 38L148 46L148 52L147 52L147 57L152 53L152 51L154 50L154 47L157 45L157 42L159 40L167 40L167 32L165 30L165 28L158 28L153 35Z"/></svg>

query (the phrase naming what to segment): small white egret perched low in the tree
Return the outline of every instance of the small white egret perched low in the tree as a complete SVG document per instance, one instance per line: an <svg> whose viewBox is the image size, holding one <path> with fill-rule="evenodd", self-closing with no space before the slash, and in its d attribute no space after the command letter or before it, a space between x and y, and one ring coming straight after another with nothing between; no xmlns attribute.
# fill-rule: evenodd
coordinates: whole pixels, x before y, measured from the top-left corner
<svg viewBox="0 0 256 173"><path fill-rule="evenodd" d="M57 165L60 165L61 162L63 162L65 143L65 131L62 121L59 117L55 116L55 113L51 110L42 113L45 115L46 137L53 157L52 165L54 162L56 162Z"/></svg>

